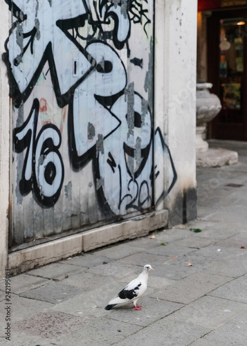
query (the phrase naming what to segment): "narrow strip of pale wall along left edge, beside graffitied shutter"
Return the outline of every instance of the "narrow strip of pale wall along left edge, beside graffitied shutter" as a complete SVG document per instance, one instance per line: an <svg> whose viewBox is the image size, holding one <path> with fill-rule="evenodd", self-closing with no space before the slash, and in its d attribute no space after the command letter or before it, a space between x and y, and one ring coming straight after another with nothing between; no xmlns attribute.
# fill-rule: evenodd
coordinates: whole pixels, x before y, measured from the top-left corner
<svg viewBox="0 0 247 346"><path fill-rule="evenodd" d="M0 55L8 37L8 6L1 8ZM9 206L9 160L10 160L10 116L9 86L6 66L0 58L0 278L5 275L8 261L8 206Z"/></svg>

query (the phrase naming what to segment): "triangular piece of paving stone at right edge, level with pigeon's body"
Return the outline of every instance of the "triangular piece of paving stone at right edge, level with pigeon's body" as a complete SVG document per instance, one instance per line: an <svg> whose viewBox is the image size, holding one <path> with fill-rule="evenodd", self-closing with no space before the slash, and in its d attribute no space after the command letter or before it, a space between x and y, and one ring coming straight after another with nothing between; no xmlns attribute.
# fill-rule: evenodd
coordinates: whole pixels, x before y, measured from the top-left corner
<svg viewBox="0 0 247 346"><path fill-rule="evenodd" d="M235 302L247 303L247 275L239 277L228 284L215 289L210 295L225 299L234 300Z"/></svg>

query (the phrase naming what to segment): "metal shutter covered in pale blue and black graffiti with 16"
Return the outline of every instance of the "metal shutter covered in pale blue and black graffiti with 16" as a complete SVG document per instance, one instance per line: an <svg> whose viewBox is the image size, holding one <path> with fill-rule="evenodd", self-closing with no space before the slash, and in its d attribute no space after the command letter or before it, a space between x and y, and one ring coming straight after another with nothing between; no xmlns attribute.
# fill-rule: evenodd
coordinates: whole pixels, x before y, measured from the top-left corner
<svg viewBox="0 0 247 346"><path fill-rule="evenodd" d="M6 6L12 246L154 208L176 172L154 126L153 1L6 0ZM162 188L154 190L159 180Z"/></svg>

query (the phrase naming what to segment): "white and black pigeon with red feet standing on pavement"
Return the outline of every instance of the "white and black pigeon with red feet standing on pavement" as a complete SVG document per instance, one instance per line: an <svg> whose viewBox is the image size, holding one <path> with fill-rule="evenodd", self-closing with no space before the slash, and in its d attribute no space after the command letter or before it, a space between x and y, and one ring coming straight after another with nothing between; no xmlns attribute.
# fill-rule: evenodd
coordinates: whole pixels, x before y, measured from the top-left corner
<svg viewBox="0 0 247 346"><path fill-rule="evenodd" d="M136 305L138 299L147 290L147 279L148 272L154 271L150 264L146 264L143 268L143 273L141 273L136 279L132 280L127 284L127 286L118 293L118 295L111 299L104 309L111 310L115 305L122 304L125 302L133 302L134 310L141 310L140 305Z"/></svg>

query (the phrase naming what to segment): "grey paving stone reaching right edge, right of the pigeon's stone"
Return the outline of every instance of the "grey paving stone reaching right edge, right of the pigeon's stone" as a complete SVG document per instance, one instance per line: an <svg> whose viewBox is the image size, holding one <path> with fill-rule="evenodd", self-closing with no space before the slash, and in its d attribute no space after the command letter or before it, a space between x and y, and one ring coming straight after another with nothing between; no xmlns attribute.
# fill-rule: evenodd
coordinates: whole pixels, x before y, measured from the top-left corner
<svg viewBox="0 0 247 346"><path fill-rule="evenodd" d="M247 312L247 304L206 295L173 314L176 321L214 329L239 313Z"/></svg>

